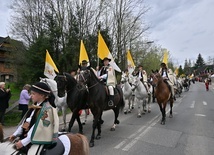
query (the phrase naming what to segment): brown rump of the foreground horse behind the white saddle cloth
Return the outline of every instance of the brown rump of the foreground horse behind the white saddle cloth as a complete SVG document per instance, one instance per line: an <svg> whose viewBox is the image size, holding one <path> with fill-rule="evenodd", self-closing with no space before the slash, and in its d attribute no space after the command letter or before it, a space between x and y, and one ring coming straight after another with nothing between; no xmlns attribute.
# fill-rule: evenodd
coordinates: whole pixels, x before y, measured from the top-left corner
<svg viewBox="0 0 214 155"><path fill-rule="evenodd" d="M68 134L67 136L71 140L70 152L72 154L89 155L89 144L86 136L79 133Z"/></svg>

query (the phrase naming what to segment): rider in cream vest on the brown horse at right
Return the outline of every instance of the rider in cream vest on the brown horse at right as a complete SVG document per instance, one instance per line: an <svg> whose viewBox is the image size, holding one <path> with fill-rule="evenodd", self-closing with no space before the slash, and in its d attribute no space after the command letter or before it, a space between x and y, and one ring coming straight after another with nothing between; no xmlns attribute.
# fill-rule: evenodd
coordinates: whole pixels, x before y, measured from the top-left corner
<svg viewBox="0 0 214 155"><path fill-rule="evenodd" d="M174 80L171 76L171 72L172 70L167 68L166 64L165 63L161 63L161 69L159 70L159 73L160 75L163 77L164 81L166 81L169 86L170 86L170 89L171 89L171 93L172 93L172 98L174 100L176 100L175 98L175 91L174 91Z"/></svg>

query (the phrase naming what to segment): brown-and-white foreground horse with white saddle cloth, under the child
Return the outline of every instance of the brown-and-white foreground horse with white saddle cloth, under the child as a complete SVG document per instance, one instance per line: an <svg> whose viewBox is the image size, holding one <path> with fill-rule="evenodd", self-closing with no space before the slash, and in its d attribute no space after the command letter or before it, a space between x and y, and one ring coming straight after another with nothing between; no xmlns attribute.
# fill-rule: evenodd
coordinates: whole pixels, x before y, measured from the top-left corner
<svg viewBox="0 0 214 155"><path fill-rule="evenodd" d="M19 151L15 149L14 144L15 141L10 142L9 137L4 139L3 127L0 125L0 152L1 154L17 154ZM81 154L81 155L89 155L89 144L86 136L81 135L79 133L71 134L71 133L63 133L58 137L58 139L62 142L64 148L60 148L64 150L62 154ZM32 145L28 150L29 155L39 155L43 151L43 147L46 145ZM47 153L53 154L53 153Z"/></svg>

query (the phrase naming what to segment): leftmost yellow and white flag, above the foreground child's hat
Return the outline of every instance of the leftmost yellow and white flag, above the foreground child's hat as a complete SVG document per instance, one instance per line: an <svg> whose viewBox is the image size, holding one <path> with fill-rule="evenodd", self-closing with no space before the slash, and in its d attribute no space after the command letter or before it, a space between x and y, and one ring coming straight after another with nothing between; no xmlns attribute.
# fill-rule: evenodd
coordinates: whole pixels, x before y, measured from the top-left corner
<svg viewBox="0 0 214 155"><path fill-rule="evenodd" d="M48 50L46 50L44 75L47 76L49 79L54 79L56 77L55 71L59 73L59 70L53 62Z"/></svg>

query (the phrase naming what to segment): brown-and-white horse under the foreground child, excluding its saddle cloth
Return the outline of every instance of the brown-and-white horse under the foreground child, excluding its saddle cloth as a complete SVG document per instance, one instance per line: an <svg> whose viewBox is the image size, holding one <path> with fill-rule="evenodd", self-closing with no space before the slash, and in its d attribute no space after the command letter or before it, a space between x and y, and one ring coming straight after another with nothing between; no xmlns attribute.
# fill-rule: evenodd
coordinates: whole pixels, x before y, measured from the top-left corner
<svg viewBox="0 0 214 155"><path fill-rule="evenodd" d="M79 155L89 155L89 144L88 144L88 139L79 133L76 134L65 134L68 139L70 140L70 150L68 150L69 155L73 154L79 154ZM60 139L60 138L59 138ZM61 140L62 141L62 140ZM3 128L2 125L0 124L0 152L3 152L3 154L11 154L12 153L17 153L17 151L14 149L14 143L6 142L4 140L4 133L3 133ZM4 145L4 143L6 143ZM63 141L62 141L63 143ZM63 143L64 144L64 143ZM67 144L66 144L67 145ZM39 154L37 152L41 151L39 150L40 147L33 147L35 145L32 145L30 150L28 151L28 154ZM36 145L39 146L39 145ZM6 151L6 152L5 152ZM35 152L35 153L32 153ZM48 155L48 153L47 153Z"/></svg>

